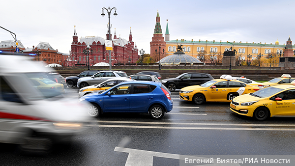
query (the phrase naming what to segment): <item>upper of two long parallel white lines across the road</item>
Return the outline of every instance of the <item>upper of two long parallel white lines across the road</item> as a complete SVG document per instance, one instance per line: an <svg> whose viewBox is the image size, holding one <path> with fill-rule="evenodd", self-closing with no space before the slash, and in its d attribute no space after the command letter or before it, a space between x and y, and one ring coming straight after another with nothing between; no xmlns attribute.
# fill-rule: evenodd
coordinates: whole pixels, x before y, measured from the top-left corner
<svg viewBox="0 0 295 166"><path fill-rule="evenodd" d="M130 123L130 124L166 124L166 125L207 125L207 126L274 126L274 127L295 127L295 124L229 124L229 123L176 123L176 122L136 122L136 121L106 121L94 120L98 123Z"/></svg>

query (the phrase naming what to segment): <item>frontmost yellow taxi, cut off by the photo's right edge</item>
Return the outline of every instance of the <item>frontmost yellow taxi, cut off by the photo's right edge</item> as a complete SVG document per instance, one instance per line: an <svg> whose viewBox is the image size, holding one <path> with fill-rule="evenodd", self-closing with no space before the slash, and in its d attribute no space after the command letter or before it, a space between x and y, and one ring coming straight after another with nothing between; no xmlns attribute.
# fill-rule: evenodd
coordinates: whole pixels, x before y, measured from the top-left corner
<svg viewBox="0 0 295 166"><path fill-rule="evenodd" d="M295 115L295 85L273 85L257 92L237 96L231 111L265 120L272 116Z"/></svg>

